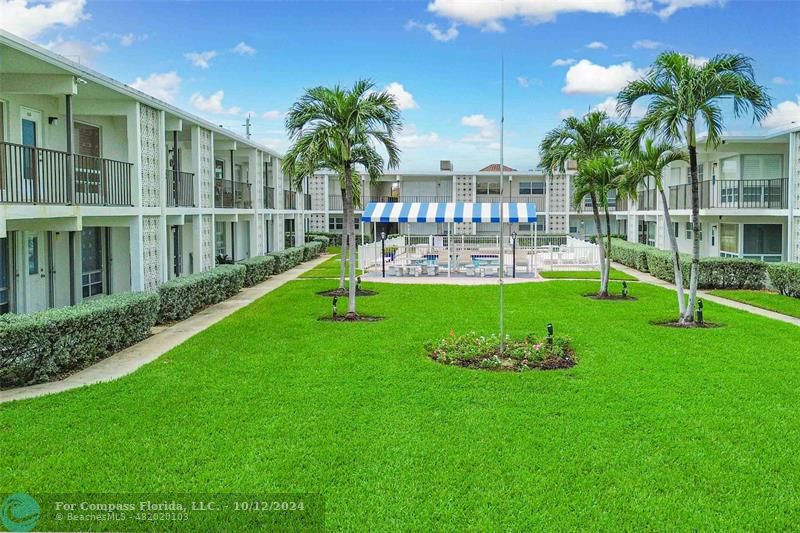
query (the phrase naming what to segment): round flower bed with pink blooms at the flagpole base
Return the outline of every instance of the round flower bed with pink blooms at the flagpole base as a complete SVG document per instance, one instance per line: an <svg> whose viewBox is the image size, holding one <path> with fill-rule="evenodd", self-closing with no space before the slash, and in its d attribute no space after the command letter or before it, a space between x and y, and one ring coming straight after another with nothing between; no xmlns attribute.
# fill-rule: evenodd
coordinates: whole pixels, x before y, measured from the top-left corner
<svg viewBox="0 0 800 533"><path fill-rule="evenodd" d="M563 336L550 341L535 335L522 339L506 336L501 354L499 335L479 335L472 331L456 336L451 331L444 339L429 341L425 348L431 359L439 363L483 370L551 370L570 368L577 362L569 339Z"/></svg>

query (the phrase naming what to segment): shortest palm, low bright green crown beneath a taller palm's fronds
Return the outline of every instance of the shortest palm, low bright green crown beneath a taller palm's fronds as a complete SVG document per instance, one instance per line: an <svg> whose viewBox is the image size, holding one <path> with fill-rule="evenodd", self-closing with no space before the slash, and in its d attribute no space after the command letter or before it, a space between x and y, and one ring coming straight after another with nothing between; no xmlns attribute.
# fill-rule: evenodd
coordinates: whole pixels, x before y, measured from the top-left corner
<svg viewBox="0 0 800 533"><path fill-rule="evenodd" d="M618 155L613 152L599 154L591 159L583 159L578 163L575 174L573 198L575 205L583 202L587 196L591 200L594 215L595 235L600 248L600 292L598 296L607 297L608 282L611 271L611 215L609 213L608 196L611 191L619 189L625 166ZM603 226L600 221L600 208L603 208L606 219L607 241L603 243Z"/></svg>

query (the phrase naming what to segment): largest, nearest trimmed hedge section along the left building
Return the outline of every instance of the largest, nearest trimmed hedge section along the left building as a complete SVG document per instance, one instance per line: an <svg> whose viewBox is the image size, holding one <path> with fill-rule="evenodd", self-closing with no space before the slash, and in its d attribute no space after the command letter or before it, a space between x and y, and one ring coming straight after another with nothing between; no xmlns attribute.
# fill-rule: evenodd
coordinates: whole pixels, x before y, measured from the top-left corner
<svg viewBox="0 0 800 533"><path fill-rule="evenodd" d="M158 294L129 292L40 313L0 315L0 388L50 381L150 335Z"/></svg>

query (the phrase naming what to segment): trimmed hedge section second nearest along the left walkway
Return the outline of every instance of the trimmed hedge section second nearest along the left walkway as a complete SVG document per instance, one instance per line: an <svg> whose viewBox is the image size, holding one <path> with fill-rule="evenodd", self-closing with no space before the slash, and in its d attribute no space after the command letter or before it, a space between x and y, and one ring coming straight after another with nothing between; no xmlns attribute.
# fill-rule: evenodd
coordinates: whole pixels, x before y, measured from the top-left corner
<svg viewBox="0 0 800 533"><path fill-rule="evenodd" d="M204 307L230 298L242 289L246 270L244 265L222 265L164 283L158 288L159 323L189 318Z"/></svg>

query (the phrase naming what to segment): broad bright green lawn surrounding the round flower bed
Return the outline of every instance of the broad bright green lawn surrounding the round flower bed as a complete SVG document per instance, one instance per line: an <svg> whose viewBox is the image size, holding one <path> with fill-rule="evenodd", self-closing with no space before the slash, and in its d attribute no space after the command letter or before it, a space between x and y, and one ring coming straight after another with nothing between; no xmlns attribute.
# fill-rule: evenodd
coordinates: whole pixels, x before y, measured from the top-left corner
<svg viewBox="0 0 800 533"><path fill-rule="evenodd" d="M319 322L330 282L295 281L123 379L0 405L0 491L318 492L355 531L797 527L795 326L508 285L508 331L552 322L579 364L492 373L422 345L495 331L497 287L367 286L386 320Z"/></svg>

